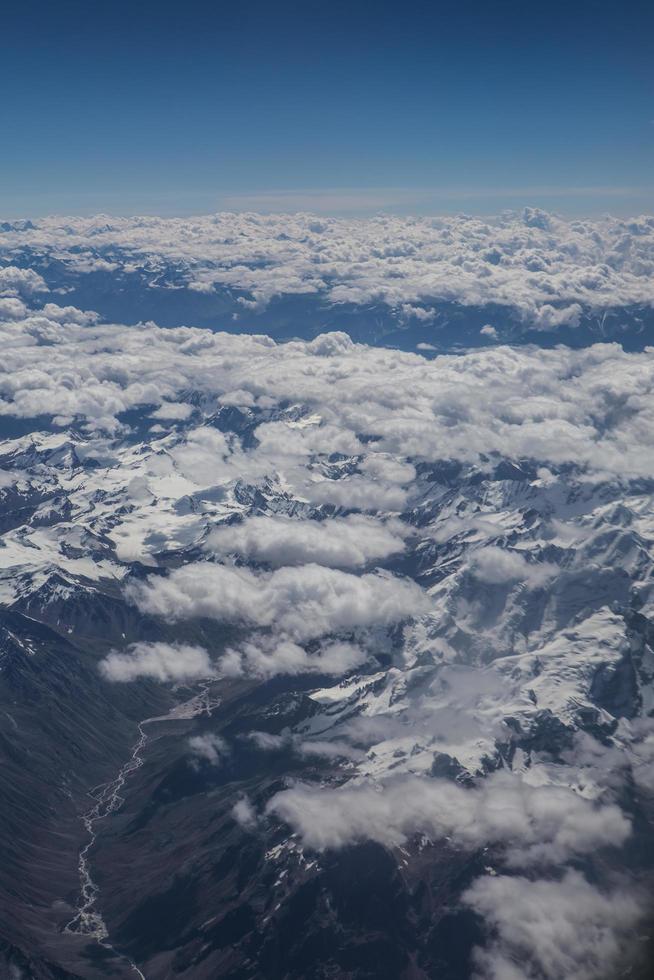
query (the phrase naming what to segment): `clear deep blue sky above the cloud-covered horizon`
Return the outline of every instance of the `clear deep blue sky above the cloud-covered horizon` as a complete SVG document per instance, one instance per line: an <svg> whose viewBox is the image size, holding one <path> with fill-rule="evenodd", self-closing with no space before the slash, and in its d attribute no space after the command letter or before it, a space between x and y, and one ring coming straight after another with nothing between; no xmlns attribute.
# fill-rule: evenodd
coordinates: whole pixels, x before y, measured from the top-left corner
<svg viewBox="0 0 654 980"><path fill-rule="evenodd" d="M6 217L654 210L649 2L27 0L3 34Z"/></svg>

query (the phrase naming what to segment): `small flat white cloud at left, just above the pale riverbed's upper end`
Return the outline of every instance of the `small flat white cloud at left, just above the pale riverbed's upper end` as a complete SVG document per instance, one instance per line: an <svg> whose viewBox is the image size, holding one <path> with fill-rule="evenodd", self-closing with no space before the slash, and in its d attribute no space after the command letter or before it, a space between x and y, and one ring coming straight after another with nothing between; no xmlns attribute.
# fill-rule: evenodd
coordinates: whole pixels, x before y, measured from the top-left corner
<svg viewBox="0 0 654 980"><path fill-rule="evenodd" d="M127 652L112 650L100 661L100 672L119 683L139 677L174 682L215 675L207 651L186 643L134 643Z"/></svg>

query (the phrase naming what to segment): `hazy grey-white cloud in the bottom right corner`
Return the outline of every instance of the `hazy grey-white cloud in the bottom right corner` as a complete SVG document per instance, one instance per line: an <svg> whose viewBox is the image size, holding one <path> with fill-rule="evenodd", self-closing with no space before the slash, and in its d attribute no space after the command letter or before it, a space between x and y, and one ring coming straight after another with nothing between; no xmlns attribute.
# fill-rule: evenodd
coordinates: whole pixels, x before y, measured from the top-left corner
<svg viewBox="0 0 654 980"><path fill-rule="evenodd" d="M463 896L494 938L475 955L477 980L613 980L637 956L642 896L561 878L478 878ZM624 972L626 971L626 972Z"/></svg>

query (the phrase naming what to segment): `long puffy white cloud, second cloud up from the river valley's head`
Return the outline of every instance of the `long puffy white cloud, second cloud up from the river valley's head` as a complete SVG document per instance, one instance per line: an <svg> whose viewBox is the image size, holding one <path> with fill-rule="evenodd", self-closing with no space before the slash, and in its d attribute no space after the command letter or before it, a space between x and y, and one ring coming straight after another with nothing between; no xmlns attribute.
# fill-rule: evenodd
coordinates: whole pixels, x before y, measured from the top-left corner
<svg viewBox="0 0 654 980"><path fill-rule="evenodd" d="M410 579L384 572L351 575L310 564L256 574L194 562L128 587L143 612L175 621L209 617L275 627L302 642L330 633L391 626L425 612L429 599Z"/></svg>

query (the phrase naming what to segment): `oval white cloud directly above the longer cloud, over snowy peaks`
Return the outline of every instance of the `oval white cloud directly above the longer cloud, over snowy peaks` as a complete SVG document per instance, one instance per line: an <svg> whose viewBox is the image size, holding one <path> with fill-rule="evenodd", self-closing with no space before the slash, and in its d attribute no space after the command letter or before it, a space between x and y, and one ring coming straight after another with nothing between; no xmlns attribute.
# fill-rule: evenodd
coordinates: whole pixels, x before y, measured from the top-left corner
<svg viewBox="0 0 654 980"><path fill-rule="evenodd" d="M212 531L205 547L277 566L315 562L332 568L360 568L403 551L405 533L399 521L384 523L357 516L326 521L251 516Z"/></svg>

